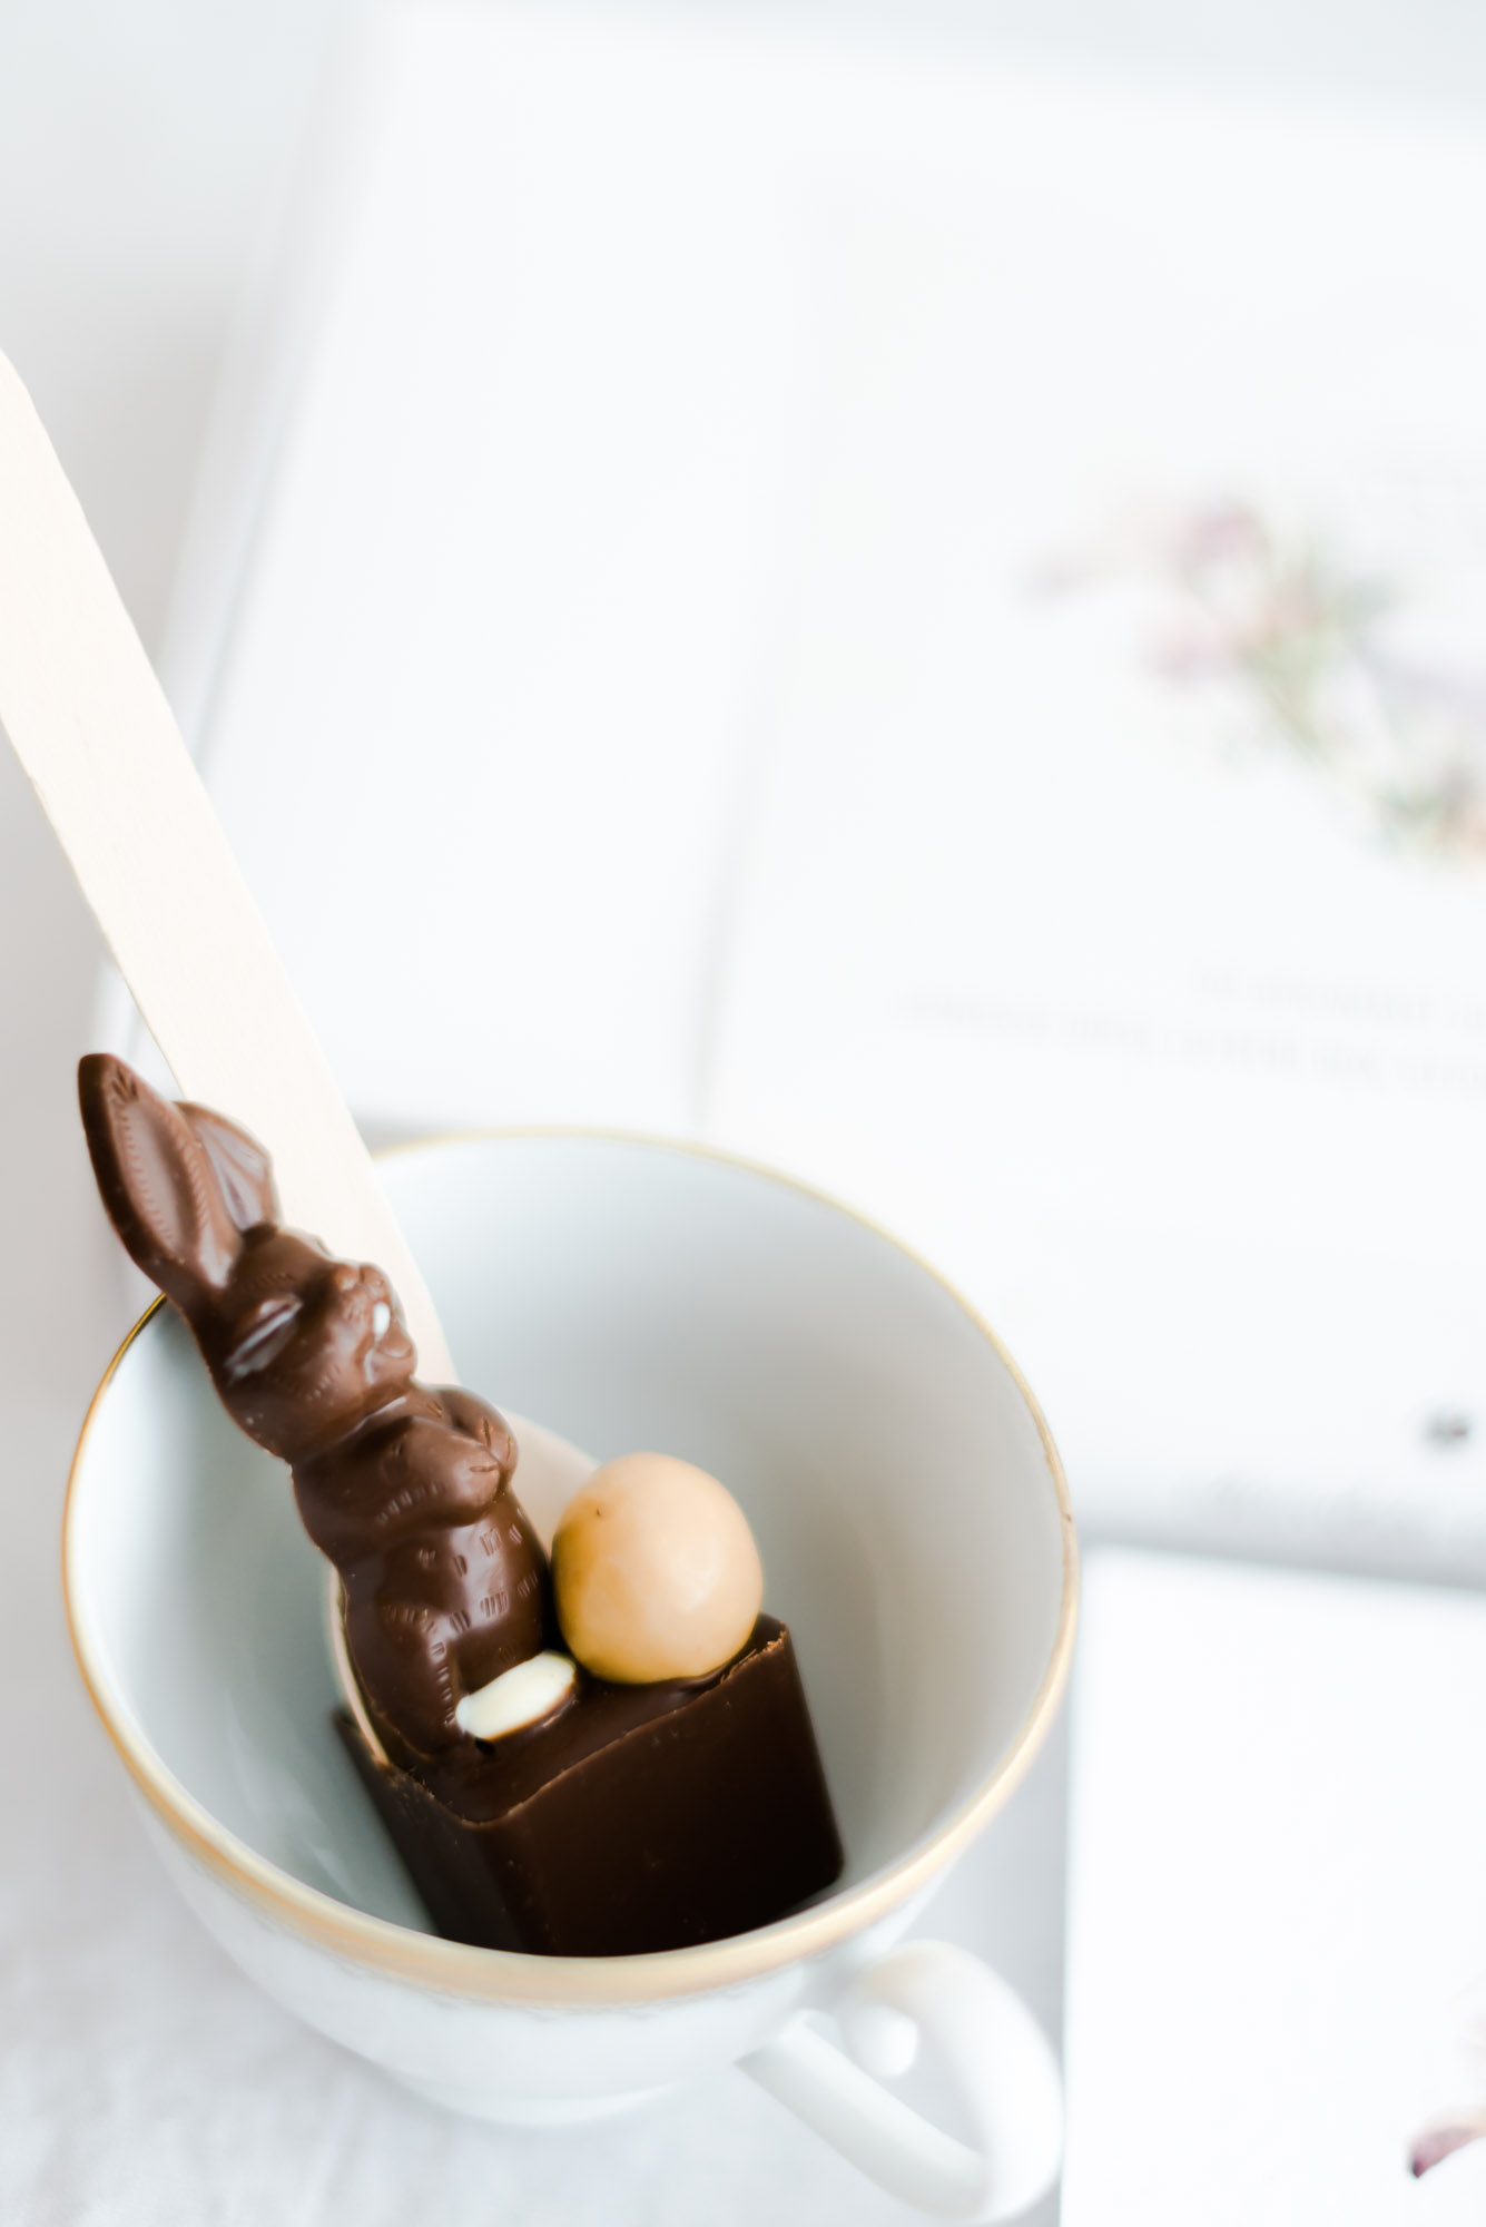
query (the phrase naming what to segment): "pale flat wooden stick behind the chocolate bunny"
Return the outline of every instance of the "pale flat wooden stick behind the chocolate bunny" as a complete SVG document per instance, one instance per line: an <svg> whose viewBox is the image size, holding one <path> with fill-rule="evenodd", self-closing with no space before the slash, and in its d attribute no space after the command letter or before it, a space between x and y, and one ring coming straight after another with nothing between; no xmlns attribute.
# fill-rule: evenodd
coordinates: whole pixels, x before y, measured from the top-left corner
<svg viewBox="0 0 1486 2227"><path fill-rule="evenodd" d="M454 1363L325 1053L31 396L0 356L0 726L180 1093L274 1158L285 1220L376 1260Z"/></svg>

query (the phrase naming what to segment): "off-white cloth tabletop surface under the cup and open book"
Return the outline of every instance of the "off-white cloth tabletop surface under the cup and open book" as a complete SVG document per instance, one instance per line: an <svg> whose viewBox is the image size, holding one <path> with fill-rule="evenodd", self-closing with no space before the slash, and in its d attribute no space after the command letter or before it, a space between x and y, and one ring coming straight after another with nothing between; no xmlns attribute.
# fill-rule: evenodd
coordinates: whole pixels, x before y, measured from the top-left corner
<svg viewBox="0 0 1486 2227"><path fill-rule="evenodd" d="M158 641L207 396L249 243L345 7L31 0L0 18L0 345ZM1464 4L1192 11L959 7L945 40L1486 116ZM449 2127L254 1995L156 1875L76 1686L56 1530L71 1439L125 1323L73 1114L98 949L0 755L0 1414L13 1733L0 1813L0 2211L24 2227L162 2216L403 2220L872 2218L743 2082L663 2118L543 2145ZM1050 2020L1061 1942L1059 1753L937 1922L997 1953ZM1446 2169L1448 2171L1448 2169ZM812 2178L812 2176L825 2178ZM781 2196L781 2189L787 2194ZM269 2194L271 2191L271 2198ZM790 2211L794 2207L794 2214Z"/></svg>

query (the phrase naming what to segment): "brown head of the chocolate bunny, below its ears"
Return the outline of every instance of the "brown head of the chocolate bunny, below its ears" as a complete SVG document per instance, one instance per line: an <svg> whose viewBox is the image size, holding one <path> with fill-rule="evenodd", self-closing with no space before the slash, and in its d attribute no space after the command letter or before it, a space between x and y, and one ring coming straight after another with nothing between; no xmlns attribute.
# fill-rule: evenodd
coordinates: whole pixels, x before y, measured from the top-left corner
<svg viewBox="0 0 1486 2227"><path fill-rule="evenodd" d="M383 1272L294 1229L249 1232L194 1327L234 1423L285 1461L385 1407L418 1361Z"/></svg>

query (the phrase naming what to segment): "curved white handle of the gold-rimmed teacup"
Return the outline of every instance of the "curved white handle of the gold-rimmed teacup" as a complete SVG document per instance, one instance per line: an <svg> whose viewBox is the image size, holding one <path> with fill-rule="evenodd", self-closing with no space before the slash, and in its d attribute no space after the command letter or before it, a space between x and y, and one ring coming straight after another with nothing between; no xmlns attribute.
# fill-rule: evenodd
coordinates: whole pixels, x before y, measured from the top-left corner
<svg viewBox="0 0 1486 2227"><path fill-rule="evenodd" d="M1052 2187L1063 2158L1063 2082L1019 1995L968 1949L908 1942L859 1973L834 2004L845 2049L805 2018L741 2058L870 2180L945 2220L1010 2220ZM954 2082L974 2145L957 2142L879 2087L919 2040Z"/></svg>

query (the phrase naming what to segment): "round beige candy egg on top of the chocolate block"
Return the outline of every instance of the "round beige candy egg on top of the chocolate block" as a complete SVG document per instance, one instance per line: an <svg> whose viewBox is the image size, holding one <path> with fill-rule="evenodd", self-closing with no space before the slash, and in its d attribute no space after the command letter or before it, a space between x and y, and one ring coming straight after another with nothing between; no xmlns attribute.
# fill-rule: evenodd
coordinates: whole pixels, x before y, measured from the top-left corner
<svg viewBox="0 0 1486 2227"><path fill-rule="evenodd" d="M621 1454L563 1510L552 1588L578 1661L645 1686L732 1661L763 1606L763 1566L716 1477L672 1454Z"/></svg>

